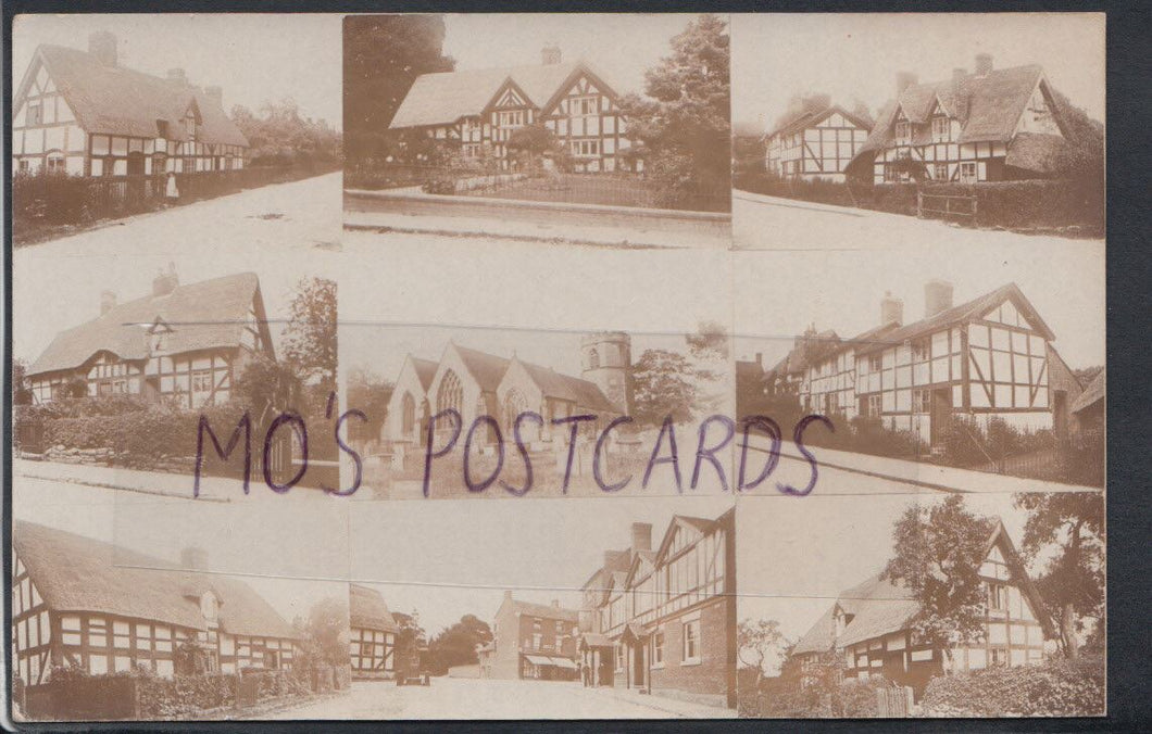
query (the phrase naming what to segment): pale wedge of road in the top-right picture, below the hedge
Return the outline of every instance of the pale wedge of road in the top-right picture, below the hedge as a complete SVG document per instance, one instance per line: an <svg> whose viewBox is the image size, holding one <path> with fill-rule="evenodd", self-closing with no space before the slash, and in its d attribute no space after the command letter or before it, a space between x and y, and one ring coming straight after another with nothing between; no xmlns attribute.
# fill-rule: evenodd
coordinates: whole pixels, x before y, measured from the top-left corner
<svg viewBox="0 0 1152 734"><path fill-rule="evenodd" d="M969 229L939 220L766 197L733 190L733 242L745 250L888 250L908 245L1040 247L1096 244L1051 235Z"/></svg>

